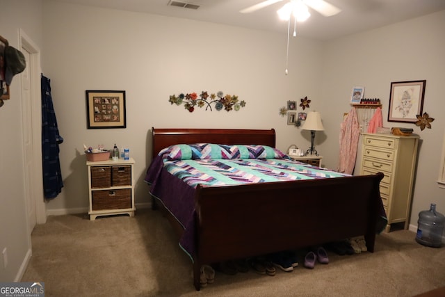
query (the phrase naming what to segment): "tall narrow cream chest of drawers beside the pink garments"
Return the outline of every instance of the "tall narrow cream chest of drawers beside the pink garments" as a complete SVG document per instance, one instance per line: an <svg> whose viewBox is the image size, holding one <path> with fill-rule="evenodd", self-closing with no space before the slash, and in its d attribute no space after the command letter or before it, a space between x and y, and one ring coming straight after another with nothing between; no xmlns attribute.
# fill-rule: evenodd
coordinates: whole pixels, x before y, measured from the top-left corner
<svg viewBox="0 0 445 297"><path fill-rule="evenodd" d="M416 171L419 136L362 134L362 175L382 172L380 195L387 213L388 225L405 222L408 228L412 188Z"/></svg>

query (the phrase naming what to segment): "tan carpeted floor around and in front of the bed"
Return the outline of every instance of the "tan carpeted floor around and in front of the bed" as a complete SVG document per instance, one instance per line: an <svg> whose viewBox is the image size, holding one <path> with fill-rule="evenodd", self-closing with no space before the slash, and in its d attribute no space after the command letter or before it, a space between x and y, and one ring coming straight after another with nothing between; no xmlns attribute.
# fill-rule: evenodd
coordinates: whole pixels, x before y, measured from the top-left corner
<svg viewBox="0 0 445 297"><path fill-rule="evenodd" d="M32 234L22 282L44 282L45 296L414 296L445 286L445 248L421 246L398 230L377 236L375 252L339 256L275 276L225 275L195 291L191 260L160 211L134 218L51 216ZM304 257L304 255L300 255Z"/></svg>

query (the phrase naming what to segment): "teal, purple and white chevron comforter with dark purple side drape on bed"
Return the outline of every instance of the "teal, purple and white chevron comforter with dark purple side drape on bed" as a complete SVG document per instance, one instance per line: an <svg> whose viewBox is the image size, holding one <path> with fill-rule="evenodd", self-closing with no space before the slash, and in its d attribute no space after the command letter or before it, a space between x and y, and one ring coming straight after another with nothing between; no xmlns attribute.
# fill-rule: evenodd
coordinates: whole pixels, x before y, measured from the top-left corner
<svg viewBox="0 0 445 297"><path fill-rule="evenodd" d="M150 194L184 227L179 246L193 255L198 184L221 186L344 176L348 175L293 161L273 147L204 143L165 148L150 164L145 182L151 185Z"/></svg>

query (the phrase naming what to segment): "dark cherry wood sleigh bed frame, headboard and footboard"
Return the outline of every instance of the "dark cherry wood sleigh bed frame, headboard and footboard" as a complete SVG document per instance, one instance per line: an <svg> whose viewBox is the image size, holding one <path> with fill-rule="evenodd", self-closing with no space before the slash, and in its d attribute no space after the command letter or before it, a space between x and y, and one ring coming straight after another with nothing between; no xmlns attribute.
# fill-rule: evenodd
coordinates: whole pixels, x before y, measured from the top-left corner
<svg viewBox="0 0 445 297"><path fill-rule="evenodd" d="M275 130L152 128L152 160L165 147L192 143L275 147ZM195 289L200 290L200 267L204 264L360 235L364 235L368 250L373 252L375 234L380 232L378 219L385 217L379 191L382 177L378 173L231 186L198 185L193 192L194 248L189 254ZM146 181L149 182L147 178ZM152 207L165 208L162 198L150 193ZM179 222L174 211L168 209L165 213L178 236L182 236L184 223Z"/></svg>

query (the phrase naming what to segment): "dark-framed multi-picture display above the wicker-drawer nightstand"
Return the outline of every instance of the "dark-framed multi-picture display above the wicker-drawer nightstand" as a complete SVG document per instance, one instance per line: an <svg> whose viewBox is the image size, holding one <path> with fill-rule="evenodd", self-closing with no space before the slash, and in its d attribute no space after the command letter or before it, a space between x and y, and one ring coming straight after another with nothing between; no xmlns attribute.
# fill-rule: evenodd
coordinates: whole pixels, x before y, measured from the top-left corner
<svg viewBox="0 0 445 297"><path fill-rule="evenodd" d="M86 90L88 129L125 128L124 90Z"/></svg>

